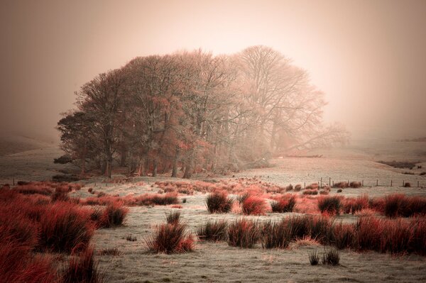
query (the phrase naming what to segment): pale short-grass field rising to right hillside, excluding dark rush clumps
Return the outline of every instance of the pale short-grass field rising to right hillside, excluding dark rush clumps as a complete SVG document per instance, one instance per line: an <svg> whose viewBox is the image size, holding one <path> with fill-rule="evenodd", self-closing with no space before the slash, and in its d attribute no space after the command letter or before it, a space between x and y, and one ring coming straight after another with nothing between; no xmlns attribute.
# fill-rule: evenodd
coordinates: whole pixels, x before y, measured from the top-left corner
<svg viewBox="0 0 426 283"><path fill-rule="evenodd" d="M165 216L170 211L180 211L182 223L187 225L190 232L196 233L197 226L212 219L232 223L244 217L256 223L266 223L271 219L278 221L287 216L301 216L306 209L296 205L293 212L267 211L261 216L242 216L238 209L233 209L231 213L209 213L206 197L216 189L200 189L203 186L222 186L222 189L226 189L235 184L229 189L229 197L235 198L239 189L253 189L258 182L265 186L275 185L276 188L301 184L300 192L292 189L288 193L297 194L298 201L302 203L305 201L302 194L306 191L303 189L305 186L320 182L321 178L327 183L331 178L332 182L364 181L364 187L345 187L340 193L337 192L339 188L332 187L327 196L353 198L368 195L370 198L383 198L398 193L426 197L426 175L420 175L426 170L426 160L424 155L418 154L424 146L425 143L387 143L374 150L370 144L364 144L346 150L324 151L321 158L281 157L271 160L273 167L245 170L228 176L207 178L199 175L190 181L160 176L134 177L120 182L124 176L116 174L115 181L102 178L84 180L80 182L84 187L72 190L69 195L88 201L89 198L102 199L118 194L125 200L142 194L160 192L163 195L168 187L172 190L172 183L176 182L190 182L191 188L199 188L190 194L178 194L180 209L172 208L172 205L129 206L124 226L97 229L91 243L95 247L95 259L99 260L98 269L104 274L105 282L425 282L425 250L417 250L418 253L378 253L368 249L344 248L340 250L340 264L333 266L321 263L310 265L308 253L317 250L322 255L324 247L330 248L312 239L292 240L283 249L262 248L261 243L256 243L253 248L236 248L226 241L214 243L202 240L195 240L195 248L190 253L148 253L146 248L146 239L156 226L165 223ZM405 152L398 152L395 148L404 148ZM58 152L58 149L50 148L2 157L1 184L11 184L13 178L30 181L58 174L57 170L61 167L50 162L58 156ZM388 160L414 160L416 166L422 168L398 169L374 162L385 160L385 157L390 157ZM403 174L408 171L413 174ZM411 187L403 187L407 182ZM376 184L379 186L376 187ZM272 191L256 193L270 202L280 195ZM106 196L97 196L100 192ZM306 196L307 199L317 197L320 196ZM305 212L320 216L319 211L310 211L309 207ZM366 213L380 219L386 218L377 211ZM359 215L340 213L330 216L330 219L334 219L334 223L355 224ZM132 240L128 240L129 237ZM118 253L100 254L114 248ZM62 260L66 261L67 257Z"/></svg>

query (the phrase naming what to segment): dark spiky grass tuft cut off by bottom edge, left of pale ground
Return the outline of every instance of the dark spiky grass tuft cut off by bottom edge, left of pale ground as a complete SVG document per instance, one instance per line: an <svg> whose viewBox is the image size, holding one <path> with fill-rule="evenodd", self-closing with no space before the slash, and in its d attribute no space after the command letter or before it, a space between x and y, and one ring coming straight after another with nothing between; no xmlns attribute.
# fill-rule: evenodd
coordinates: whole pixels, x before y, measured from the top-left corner
<svg viewBox="0 0 426 283"><path fill-rule="evenodd" d="M103 282L102 274L98 272L97 263L94 262L93 253L93 248L87 248L80 256L71 257L70 263L63 274L62 281L64 283Z"/></svg>

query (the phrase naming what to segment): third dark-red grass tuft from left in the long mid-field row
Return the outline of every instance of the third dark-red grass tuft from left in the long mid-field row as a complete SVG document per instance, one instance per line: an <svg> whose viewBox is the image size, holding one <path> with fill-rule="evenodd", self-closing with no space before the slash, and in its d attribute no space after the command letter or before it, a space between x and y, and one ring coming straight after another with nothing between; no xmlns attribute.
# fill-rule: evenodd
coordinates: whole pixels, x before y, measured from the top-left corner
<svg viewBox="0 0 426 283"><path fill-rule="evenodd" d="M268 221L263 224L263 248L287 248L291 240L291 226L281 221Z"/></svg>

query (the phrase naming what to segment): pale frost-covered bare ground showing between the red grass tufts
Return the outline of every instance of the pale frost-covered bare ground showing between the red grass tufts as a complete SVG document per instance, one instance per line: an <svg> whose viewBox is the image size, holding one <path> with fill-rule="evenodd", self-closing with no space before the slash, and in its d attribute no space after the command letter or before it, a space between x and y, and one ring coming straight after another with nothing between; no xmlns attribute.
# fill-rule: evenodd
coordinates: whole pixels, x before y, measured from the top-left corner
<svg viewBox="0 0 426 283"><path fill-rule="evenodd" d="M372 155L374 155L372 153ZM16 179L45 179L57 174L60 166L53 165L53 157L58 156L57 149L32 150L6 155L0 161L1 182ZM381 156L383 157L383 156ZM425 168L425 159L419 156L419 165ZM378 158L383 159L383 158ZM214 177L215 179L234 179L239 177L260 177L263 182L281 186L288 184L310 184L323 178L327 182L331 177L334 181L361 181L371 186L358 189L343 189L341 195L384 196L400 192L409 196L426 196L426 187L402 187L403 182L426 184L425 175L405 175L401 170L373 162L376 160L370 153L351 155L330 154L322 158L283 157L273 160L271 168L246 170L234 177ZM413 170L415 171L415 170ZM204 179L205 176L200 176ZM158 188L151 187L156 181L181 181L163 177L137 177L132 182L112 184L104 179L88 179L85 187L75 192L80 197L92 196L88 189L107 194L155 193ZM390 185L376 187L380 184ZM193 182L193 181L189 181ZM337 194L332 188L331 195ZM195 232L197 225L209 219L240 218L234 213L209 214L204 204L205 194L196 193L191 196L180 195L186 199L181 203L181 218L187 223L190 231ZM175 255L147 253L144 239L151 235L155 225L165 222L166 213L173 210L170 206L134 206L125 226L100 229L94 235L93 243L96 250L117 248L116 255L97 255L99 268L104 272L107 282L425 282L426 257L420 255L381 254L374 252L356 253L342 250L341 265L311 266L308 252L323 251L321 245L291 244L284 250L266 250L258 244L251 249L229 247L227 243L197 242L195 251ZM281 218L290 213L268 213L266 216L249 216L257 221ZM354 223L357 216L344 214L337 216L336 221ZM128 240L129 236L132 240Z"/></svg>

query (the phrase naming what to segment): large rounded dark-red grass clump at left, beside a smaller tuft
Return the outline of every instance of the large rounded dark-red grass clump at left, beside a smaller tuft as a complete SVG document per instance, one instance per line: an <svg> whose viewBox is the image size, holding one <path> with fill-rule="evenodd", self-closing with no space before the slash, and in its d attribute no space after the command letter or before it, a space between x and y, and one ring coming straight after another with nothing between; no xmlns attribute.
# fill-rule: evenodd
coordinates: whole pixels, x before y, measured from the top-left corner
<svg viewBox="0 0 426 283"><path fill-rule="evenodd" d="M56 202L46 208L40 218L40 250L67 252L85 248L92 238L94 226L90 211L75 204Z"/></svg>

